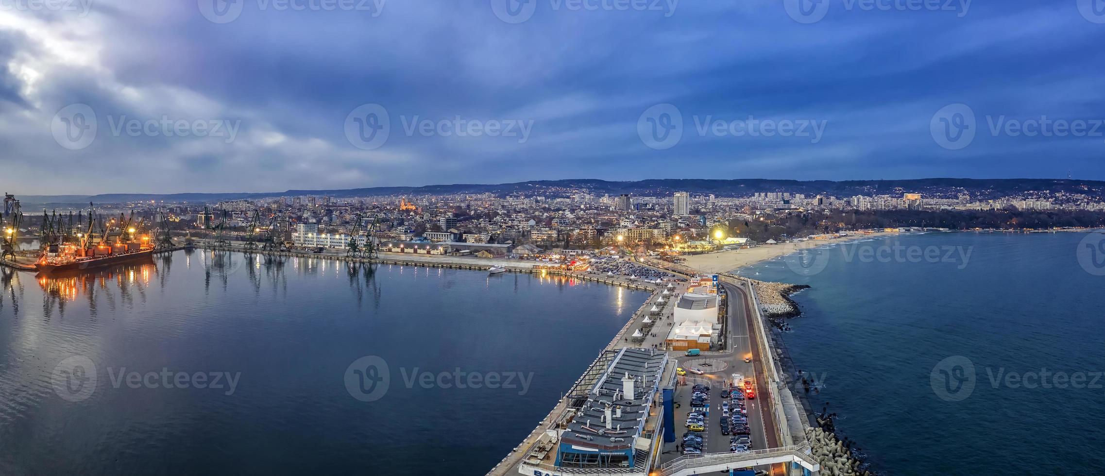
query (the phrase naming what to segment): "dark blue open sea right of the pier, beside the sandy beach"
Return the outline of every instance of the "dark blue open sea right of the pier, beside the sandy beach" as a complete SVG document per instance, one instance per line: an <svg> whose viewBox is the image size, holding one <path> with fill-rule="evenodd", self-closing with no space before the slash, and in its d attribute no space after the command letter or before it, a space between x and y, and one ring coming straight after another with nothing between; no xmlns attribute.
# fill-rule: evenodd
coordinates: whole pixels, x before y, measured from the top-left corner
<svg viewBox="0 0 1105 476"><path fill-rule="evenodd" d="M1105 276L1080 265L1084 236L903 235L741 274L812 286L783 339L876 469L1105 474Z"/></svg>

